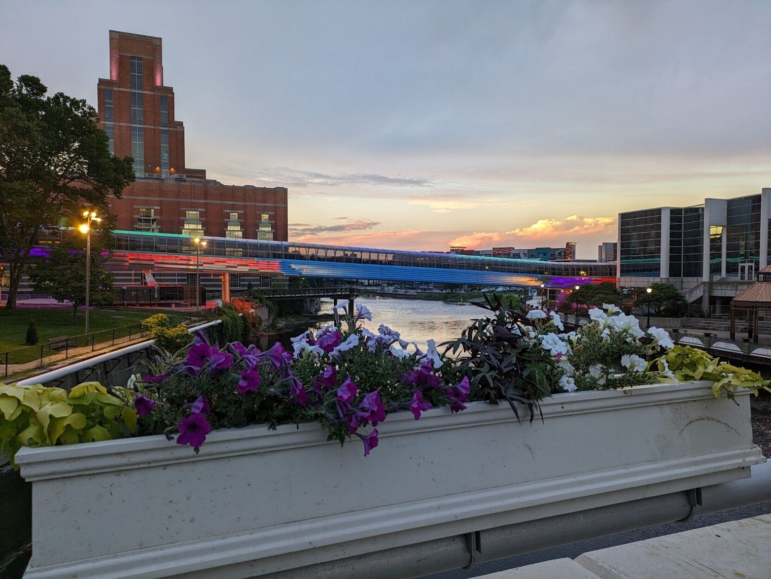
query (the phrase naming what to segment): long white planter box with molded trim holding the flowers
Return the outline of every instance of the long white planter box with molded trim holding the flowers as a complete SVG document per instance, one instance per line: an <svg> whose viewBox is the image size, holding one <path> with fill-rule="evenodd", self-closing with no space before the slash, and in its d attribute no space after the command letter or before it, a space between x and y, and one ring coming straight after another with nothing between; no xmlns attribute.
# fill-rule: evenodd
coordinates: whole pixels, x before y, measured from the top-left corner
<svg viewBox="0 0 771 579"><path fill-rule="evenodd" d="M744 478L765 461L748 395L566 393L532 424L483 402L399 412L366 458L315 423L219 431L200 454L163 436L22 449L25 577L253 577Z"/></svg>

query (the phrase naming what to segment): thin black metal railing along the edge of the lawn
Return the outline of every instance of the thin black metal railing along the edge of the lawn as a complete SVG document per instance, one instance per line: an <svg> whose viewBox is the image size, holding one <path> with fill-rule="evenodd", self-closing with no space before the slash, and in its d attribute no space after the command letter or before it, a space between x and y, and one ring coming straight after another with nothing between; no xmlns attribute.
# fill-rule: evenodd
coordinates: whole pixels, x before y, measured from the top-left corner
<svg viewBox="0 0 771 579"><path fill-rule="evenodd" d="M148 316L150 317L150 316ZM173 325L200 321L198 315L173 315L170 316ZM5 366L5 377L8 377L8 367L19 364L29 364L39 360L42 366L46 358L55 355L61 355L64 352L64 359L69 359L71 353L88 352L83 348L91 346L91 352L96 351L97 344L107 344L114 346L123 338L131 341L134 338L144 338L150 334L150 330L142 327L141 322L102 330L101 332L89 332L75 336L62 336L61 338L47 338L45 342L39 345L27 346L25 348L15 348L6 352L0 352L0 364ZM72 352L76 350L77 352Z"/></svg>

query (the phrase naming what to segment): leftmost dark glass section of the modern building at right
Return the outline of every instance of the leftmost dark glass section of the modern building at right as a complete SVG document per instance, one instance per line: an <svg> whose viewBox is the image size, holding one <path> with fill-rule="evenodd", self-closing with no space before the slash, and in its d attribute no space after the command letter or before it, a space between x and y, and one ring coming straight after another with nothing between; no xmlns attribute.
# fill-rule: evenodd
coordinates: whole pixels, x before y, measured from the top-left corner
<svg viewBox="0 0 771 579"><path fill-rule="evenodd" d="M661 277L662 210L623 213L618 219L621 277Z"/></svg>

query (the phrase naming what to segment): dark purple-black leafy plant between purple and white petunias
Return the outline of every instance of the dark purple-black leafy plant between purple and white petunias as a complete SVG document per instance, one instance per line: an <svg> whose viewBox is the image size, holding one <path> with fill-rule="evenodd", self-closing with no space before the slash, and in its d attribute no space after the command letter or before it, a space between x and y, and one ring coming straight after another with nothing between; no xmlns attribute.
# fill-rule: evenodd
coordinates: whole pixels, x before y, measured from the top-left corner
<svg viewBox="0 0 771 579"><path fill-rule="evenodd" d="M445 342L444 353L454 357L460 352L454 371L470 380L472 399L506 400L515 413L513 402L521 402L532 421L538 401L557 385L561 375L557 361L543 348L533 347L527 318L503 305L497 295L492 300L485 295L485 301L474 305L493 315L474 320L459 339Z"/></svg>

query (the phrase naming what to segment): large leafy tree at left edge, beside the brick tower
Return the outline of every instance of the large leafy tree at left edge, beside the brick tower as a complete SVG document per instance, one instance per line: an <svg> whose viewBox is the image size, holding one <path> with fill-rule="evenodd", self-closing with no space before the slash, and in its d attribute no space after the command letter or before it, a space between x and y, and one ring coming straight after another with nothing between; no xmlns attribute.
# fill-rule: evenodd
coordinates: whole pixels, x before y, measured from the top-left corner
<svg viewBox="0 0 771 579"><path fill-rule="evenodd" d="M48 89L35 76L11 79L0 65L0 261L9 264L6 308L16 307L30 251L46 227L74 225L82 207L107 214L134 180L131 157L109 153L96 110Z"/></svg>

